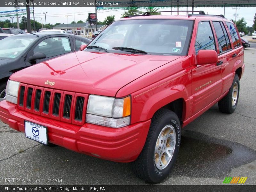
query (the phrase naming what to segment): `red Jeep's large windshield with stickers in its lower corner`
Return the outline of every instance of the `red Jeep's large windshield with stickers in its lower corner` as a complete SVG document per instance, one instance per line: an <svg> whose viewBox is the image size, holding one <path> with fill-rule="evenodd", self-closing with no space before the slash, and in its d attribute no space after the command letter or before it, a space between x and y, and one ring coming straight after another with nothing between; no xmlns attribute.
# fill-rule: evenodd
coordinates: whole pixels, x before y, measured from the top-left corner
<svg viewBox="0 0 256 192"><path fill-rule="evenodd" d="M187 55L192 25L190 20L116 21L102 31L85 51L92 51L93 46L98 46L108 52L129 52L122 48L133 48L151 55Z"/></svg>

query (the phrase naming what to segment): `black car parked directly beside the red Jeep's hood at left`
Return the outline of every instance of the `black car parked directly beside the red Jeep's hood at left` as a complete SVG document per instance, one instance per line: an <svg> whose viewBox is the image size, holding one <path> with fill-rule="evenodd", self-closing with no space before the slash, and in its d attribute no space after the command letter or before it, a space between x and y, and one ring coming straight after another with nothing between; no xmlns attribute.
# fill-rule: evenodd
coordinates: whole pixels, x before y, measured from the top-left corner
<svg viewBox="0 0 256 192"><path fill-rule="evenodd" d="M5 98L6 83L12 73L36 63L78 51L91 40L70 34L22 34L0 41L0 101ZM58 73L51 68L52 74ZM58 68L56 68L58 70Z"/></svg>

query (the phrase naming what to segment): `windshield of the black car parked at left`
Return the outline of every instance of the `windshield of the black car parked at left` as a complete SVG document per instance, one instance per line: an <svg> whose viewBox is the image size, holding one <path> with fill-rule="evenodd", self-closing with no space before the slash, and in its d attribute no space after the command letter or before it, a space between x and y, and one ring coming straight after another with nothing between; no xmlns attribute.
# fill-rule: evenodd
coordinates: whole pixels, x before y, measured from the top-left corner
<svg viewBox="0 0 256 192"><path fill-rule="evenodd" d="M37 37L10 36L1 40L0 59L15 59Z"/></svg>

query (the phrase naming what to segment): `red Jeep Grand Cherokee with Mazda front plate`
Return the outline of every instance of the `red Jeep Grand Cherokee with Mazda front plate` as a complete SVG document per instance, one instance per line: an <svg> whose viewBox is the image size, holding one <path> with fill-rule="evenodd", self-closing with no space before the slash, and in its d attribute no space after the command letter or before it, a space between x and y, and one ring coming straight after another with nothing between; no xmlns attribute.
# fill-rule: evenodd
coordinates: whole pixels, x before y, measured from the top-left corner
<svg viewBox="0 0 256 192"><path fill-rule="evenodd" d="M218 102L232 113L244 72L233 22L204 12L127 17L88 46L10 77L0 119L26 137L168 176L181 127Z"/></svg>

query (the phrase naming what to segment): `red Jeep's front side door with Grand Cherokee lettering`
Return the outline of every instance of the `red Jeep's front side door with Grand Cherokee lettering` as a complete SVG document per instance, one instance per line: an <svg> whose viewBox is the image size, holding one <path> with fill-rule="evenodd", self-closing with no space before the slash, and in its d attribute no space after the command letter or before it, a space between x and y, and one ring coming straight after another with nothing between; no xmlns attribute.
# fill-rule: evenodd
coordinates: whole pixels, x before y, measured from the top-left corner
<svg viewBox="0 0 256 192"><path fill-rule="evenodd" d="M195 20L197 26L195 41L195 65L192 66L192 115L196 114L212 101L220 97L221 91L221 70L220 65L210 63L197 65L196 55L199 50L217 50L216 39L213 35L213 26L210 20Z"/></svg>

